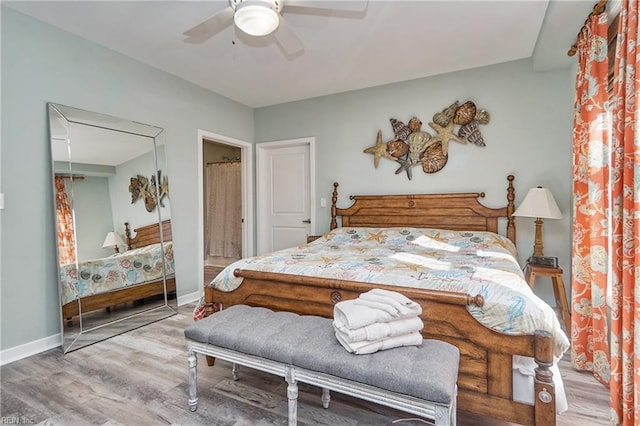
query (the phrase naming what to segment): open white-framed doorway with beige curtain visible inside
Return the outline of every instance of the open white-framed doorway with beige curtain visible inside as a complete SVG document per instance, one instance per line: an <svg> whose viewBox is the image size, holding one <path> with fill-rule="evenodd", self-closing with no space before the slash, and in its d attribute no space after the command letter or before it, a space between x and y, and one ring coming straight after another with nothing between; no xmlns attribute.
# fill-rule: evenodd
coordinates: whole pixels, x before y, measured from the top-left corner
<svg viewBox="0 0 640 426"><path fill-rule="evenodd" d="M251 256L251 145L199 132L199 260L203 285Z"/></svg>

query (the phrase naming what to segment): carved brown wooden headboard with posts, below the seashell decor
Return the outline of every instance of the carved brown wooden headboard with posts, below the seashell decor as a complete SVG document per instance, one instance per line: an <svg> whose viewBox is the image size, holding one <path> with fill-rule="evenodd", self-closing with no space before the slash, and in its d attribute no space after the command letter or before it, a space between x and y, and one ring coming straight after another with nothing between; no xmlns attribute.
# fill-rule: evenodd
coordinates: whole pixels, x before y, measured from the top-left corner
<svg viewBox="0 0 640 426"><path fill-rule="evenodd" d="M423 227L451 230L491 231L498 233L498 219L507 219L507 238L516 243L513 175L507 176L507 206L492 209L479 201L484 192L417 195L352 195L353 204L341 209L338 182L333 184L331 229L342 226L357 227Z"/></svg>

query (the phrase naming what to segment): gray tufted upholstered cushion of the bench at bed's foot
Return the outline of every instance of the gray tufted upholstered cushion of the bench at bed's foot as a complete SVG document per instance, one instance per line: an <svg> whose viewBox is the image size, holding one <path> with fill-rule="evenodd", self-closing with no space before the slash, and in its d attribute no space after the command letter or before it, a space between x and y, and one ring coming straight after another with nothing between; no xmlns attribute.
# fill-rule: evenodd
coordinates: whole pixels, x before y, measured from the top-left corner
<svg viewBox="0 0 640 426"><path fill-rule="evenodd" d="M432 402L450 404L455 397L460 354L439 340L354 355L337 341L330 319L245 305L196 322L185 336Z"/></svg>

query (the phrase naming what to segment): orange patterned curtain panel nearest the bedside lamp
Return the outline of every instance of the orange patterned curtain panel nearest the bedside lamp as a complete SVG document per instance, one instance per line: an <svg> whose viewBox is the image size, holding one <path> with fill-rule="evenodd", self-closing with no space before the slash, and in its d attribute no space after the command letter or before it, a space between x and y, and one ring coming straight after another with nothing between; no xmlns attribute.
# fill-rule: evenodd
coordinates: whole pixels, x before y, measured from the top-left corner
<svg viewBox="0 0 640 426"><path fill-rule="evenodd" d="M573 117L571 360L609 383L607 270L609 133L607 14L591 16L578 36Z"/></svg>

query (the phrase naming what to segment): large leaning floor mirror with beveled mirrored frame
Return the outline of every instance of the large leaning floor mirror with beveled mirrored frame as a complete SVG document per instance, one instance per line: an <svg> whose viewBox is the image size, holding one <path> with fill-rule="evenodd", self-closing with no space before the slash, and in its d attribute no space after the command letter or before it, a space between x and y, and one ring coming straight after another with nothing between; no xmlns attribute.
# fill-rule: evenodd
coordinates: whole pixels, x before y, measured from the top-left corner
<svg viewBox="0 0 640 426"><path fill-rule="evenodd" d="M177 311L163 129L49 104L62 350Z"/></svg>

